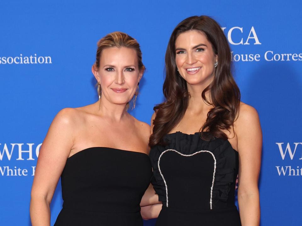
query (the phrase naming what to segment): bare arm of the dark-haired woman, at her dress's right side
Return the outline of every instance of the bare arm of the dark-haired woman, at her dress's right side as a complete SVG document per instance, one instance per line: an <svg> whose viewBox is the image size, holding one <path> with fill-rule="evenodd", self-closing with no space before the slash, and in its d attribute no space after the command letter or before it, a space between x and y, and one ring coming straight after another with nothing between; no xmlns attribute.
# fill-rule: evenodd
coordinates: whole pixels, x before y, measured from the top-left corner
<svg viewBox="0 0 302 226"><path fill-rule="evenodd" d="M234 128L238 137L238 204L241 223L243 226L259 226L258 179L261 164L262 132L257 111L249 105L241 104Z"/></svg>

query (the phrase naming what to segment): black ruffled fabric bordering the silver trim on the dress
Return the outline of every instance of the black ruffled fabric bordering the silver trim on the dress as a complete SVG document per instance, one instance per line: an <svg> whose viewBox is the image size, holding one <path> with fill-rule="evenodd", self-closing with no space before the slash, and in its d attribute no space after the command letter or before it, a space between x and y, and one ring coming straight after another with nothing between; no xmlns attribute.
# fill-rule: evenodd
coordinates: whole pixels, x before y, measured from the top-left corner
<svg viewBox="0 0 302 226"><path fill-rule="evenodd" d="M155 145L150 150L150 160L153 167L151 183L154 186L159 201L166 204L165 183L158 169L158 159L162 152L167 149L175 149L182 154L193 154L197 151L207 150L214 154L216 159L216 173L212 193L212 205L215 207L227 206L231 184L236 180L235 171L238 172L238 153L232 148L227 140L213 138L204 141L195 134L176 132L167 134L164 139L169 143L166 146ZM237 156L236 156L237 155ZM235 177L234 177L235 176Z"/></svg>

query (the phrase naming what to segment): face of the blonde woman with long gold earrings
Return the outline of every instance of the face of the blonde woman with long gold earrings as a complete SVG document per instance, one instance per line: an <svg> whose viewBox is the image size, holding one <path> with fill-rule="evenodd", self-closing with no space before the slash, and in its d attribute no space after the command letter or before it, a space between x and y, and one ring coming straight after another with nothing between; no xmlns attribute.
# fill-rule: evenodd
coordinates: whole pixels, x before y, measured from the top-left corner
<svg viewBox="0 0 302 226"><path fill-rule="evenodd" d="M126 47L103 49L99 65L98 70L92 67L92 72L101 85L102 99L126 105L143 75L138 68L136 51Z"/></svg>

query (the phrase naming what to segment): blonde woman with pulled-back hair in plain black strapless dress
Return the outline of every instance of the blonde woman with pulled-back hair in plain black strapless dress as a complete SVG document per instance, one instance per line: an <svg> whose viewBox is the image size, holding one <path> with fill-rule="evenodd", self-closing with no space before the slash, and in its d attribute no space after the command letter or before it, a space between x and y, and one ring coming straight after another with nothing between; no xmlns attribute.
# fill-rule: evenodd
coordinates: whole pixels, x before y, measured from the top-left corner
<svg viewBox="0 0 302 226"><path fill-rule="evenodd" d="M133 96L136 100L144 71L140 46L129 35L114 32L98 41L92 73L99 100L63 109L54 118L31 191L33 226L50 225L60 176L64 203L56 226L143 225L140 204L152 204L148 194L154 194L149 188L144 195L152 174L150 126L127 108Z"/></svg>

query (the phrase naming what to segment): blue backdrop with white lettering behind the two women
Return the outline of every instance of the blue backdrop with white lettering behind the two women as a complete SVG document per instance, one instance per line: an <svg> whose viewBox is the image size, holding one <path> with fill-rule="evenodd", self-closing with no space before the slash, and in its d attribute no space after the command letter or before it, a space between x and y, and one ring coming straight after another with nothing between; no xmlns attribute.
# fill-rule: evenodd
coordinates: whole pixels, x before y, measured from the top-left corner
<svg viewBox="0 0 302 226"><path fill-rule="evenodd" d="M302 3L284 2L1 0L0 225L31 225L31 184L53 117L98 100L91 73L97 41L123 31L140 43L147 71L131 114L149 123L163 100L169 37L192 15L221 24L242 101L260 115L261 225L302 225ZM52 225L61 207L59 183Z"/></svg>

